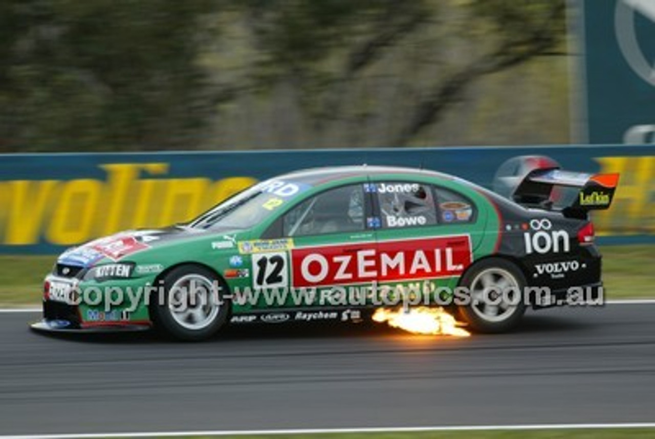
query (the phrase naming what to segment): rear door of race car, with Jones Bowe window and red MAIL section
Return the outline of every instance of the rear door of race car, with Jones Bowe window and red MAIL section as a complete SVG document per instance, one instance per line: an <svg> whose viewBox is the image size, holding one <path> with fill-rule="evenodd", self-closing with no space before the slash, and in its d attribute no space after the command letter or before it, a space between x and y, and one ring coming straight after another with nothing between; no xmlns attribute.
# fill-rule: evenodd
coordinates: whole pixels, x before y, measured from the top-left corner
<svg viewBox="0 0 655 439"><path fill-rule="evenodd" d="M457 191L418 180L373 181L370 191L379 218L381 294L390 303L404 296L418 304L451 291L472 262L475 204Z"/></svg>

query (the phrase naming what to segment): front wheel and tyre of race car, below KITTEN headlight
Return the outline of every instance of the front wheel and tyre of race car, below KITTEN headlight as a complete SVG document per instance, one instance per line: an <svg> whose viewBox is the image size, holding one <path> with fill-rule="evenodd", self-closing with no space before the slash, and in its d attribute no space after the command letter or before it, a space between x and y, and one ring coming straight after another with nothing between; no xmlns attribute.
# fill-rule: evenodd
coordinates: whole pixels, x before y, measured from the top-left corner
<svg viewBox="0 0 655 439"><path fill-rule="evenodd" d="M183 265L163 278L164 297L153 296L153 323L164 335L200 341L216 334L228 319L227 285L214 272Z"/></svg>

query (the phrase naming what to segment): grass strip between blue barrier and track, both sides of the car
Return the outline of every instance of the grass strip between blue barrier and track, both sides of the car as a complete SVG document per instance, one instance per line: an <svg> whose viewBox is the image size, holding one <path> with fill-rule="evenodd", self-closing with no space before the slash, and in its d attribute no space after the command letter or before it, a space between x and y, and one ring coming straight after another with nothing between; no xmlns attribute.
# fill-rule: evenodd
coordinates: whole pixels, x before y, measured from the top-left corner
<svg viewBox="0 0 655 439"><path fill-rule="evenodd" d="M604 246L608 299L655 298L655 245ZM0 256L0 306L38 305L56 256Z"/></svg>

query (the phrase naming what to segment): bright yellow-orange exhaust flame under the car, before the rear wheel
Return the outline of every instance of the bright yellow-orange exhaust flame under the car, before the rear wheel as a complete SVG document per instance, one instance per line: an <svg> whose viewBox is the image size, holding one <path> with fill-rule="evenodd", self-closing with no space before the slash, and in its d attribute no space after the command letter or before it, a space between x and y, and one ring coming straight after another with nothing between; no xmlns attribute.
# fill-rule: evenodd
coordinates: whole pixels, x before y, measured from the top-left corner
<svg viewBox="0 0 655 439"><path fill-rule="evenodd" d="M389 326L400 328L414 334L455 335L468 337L470 332L461 326L455 317L446 313L443 308L417 307L407 312L403 309L391 310L379 308L373 314L375 322L387 322Z"/></svg>

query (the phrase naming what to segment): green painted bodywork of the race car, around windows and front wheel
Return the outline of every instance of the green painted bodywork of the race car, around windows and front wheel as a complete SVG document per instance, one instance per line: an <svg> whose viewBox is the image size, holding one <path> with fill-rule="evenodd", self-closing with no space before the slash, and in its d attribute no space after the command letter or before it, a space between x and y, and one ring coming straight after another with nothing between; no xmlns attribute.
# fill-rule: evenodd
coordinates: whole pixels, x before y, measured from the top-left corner
<svg viewBox="0 0 655 439"><path fill-rule="evenodd" d="M208 267L214 271L219 277L223 278L231 292L234 290L246 290L253 287L253 275L255 267L253 266L253 259L256 259L258 254L265 254L266 252L247 252L244 251L244 243L247 246L257 246L262 244L258 242L260 237L263 236L265 231L271 227L276 219L300 200L312 197L316 193L325 191L333 187L347 185L352 183L364 184L368 182L379 181L412 181L417 183L429 183L444 187L445 189L452 189L458 193L468 197L477 208L477 217L472 223L453 223L453 224L440 224L432 226L417 226L405 227L398 229L367 229L360 233L334 233L326 235L316 235L308 237L297 237L292 240L294 248L303 248L308 246L326 246L335 244L357 244L363 243L365 245L375 246L377 242L396 241L396 240L413 240L426 237L448 237L451 235L468 235L470 237L470 248L472 251L472 261L484 258L493 254L496 250L496 244L499 239L499 218L494 204L481 193L477 191L470 183L444 176L437 178L434 174L425 173L412 173L405 174L402 172L390 172L388 174L377 173L370 178L367 176L350 176L347 178L340 178L325 183L314 185L310 189L285 200L283 203L274 206L271 209L269 218L264 219L259 224L246 230L234 231L220 231L216 233L189 233L179 239L173 239L166 242L160 242L157 245L151 246L146 250L141 250L130 254L120 259L121 263L131 262L136 267L149 267L149 273L139 274L138 270L134 270L132 277L121 280L106 280L104 282L96 282L96 280L83 280L79 284L81 290L87 287L103 288L111 286L122 290L124 297L128 297L128 288L134 292L138 292L141 288L151 286L159 286L162 275L173 267L182 264L199 264ZM368 195L372 196L372 195ZM264 242L271 244L269 240ZM274 242L276 243L276 242ZM284 241L281 241L284 244ZM286 247L291 246L291 242L286 242ZM277 252L286 252L290 254L289 249L285 250L285 246L278 248ZM287 261L291 261L288 256ZM103 263L115 263L111 259L102 259L96 265ZM284 267L286 270L286 277L291 280L292 267L291 263L286 263ZM240 271L242 277L233 277L234 271ZM246 276L247 274L247 276ZM454 287L458 282L458 277L445 277L434 280L436 286ZM409 288L411 284L416 284L416 281L394 281L387 282L386 286L391 288ZM352 284L346 286L347 288L360 288L365 284ZM324 288L325 289L325 288ZM320 296L320 295L318 295ZM288 297L287 303L284 306L293 306L291 296ZM129 311L127 322L136 322L149 319L149 312L145 305L145 294L141 296L139 305L136 309L128 310L129 301L127 303L113 304L109 312L121 313L122 311ZM260 300L258 303L237 303L233 301L232 313L238 315L240 313L247 313L255 309L263 309L269 307L267 303ZM314 306L329 307L332 304L319 303L318 300L314 302ZM318 309L318 308L317 308ZM97 317L97 314L105 312L105 303L98 303L97 306L81 305L80 313L83 321L88 320L89 316Z"/></svg>

